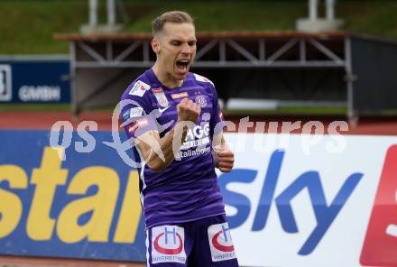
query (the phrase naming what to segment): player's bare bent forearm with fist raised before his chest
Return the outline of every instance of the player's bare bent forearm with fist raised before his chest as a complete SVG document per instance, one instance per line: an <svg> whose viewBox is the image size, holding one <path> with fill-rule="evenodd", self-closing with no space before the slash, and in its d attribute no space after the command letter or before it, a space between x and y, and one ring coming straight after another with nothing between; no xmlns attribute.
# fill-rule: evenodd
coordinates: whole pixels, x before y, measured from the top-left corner
<svg viewBox="0 0 397 267"><path fill-rule="evenodd" d="M186 138L188 124L196 124L201 108L188 98L184 98L177 106L177 112L177 123L162 138L158 131L151 130L137 136L135 140L143 161L155 172L161 172L175 159L174 152L180 150L180 145Z"/></svg>

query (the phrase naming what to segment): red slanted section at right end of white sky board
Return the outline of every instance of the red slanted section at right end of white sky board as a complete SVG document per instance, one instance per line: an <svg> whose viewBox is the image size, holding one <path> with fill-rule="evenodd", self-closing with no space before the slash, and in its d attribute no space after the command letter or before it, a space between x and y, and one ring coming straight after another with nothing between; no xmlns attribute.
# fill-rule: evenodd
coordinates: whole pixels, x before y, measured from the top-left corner
<svg viewBox="0 0 397 267"><path fill-rule="evenodd" d="M360 262L365 266L395 266L397 262L397 145L392 145L382 176Z"/></svg>

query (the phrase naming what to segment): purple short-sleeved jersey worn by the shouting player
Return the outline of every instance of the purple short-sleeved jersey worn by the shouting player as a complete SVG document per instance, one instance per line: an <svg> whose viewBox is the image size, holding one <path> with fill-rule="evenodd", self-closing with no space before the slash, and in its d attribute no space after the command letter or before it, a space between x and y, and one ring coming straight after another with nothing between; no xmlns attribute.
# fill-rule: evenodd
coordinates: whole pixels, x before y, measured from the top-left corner
<svg viewBox="0 0 397 267"><path fill-rule="evenodd" d="M169 88L152 69L146 70L122 96L131 102L121 112L123 122L129 122L125 132L137 137L156 130L163 137L176 123L176 106L185 97L201 106L201 114L177 154L180 161L156 173L134 147L135 161L141 162L138 172L146 228L225 214L211 153L214 130L224 123L217 92L208 78L189 72L181 87Z"/></svg>

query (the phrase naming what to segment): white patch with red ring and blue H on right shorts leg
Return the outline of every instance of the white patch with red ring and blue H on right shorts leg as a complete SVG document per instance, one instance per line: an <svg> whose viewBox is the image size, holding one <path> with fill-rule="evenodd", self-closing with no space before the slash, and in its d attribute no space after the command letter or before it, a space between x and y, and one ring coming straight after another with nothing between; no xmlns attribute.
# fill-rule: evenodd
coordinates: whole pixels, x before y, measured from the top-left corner
<svg viewBox="0 0 397 267"><path fill-rule="evenodd" d="M227 223L209 226L208 241L212 262L235 259L235 246Z"/></svg>

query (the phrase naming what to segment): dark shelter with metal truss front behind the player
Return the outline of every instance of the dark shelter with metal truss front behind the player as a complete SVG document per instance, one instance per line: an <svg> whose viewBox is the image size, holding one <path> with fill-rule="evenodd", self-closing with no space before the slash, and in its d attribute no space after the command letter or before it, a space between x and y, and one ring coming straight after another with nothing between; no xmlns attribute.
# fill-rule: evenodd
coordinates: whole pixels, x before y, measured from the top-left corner
<svg viewBox="0 0 397 267"><path fill-rule="evenodd" d="M155 60L149 33L55 38L70 41L75 115L87 107L115 105L125 87ZM390 95L379 97L397 84L391 69L397 62L395 41L342 31L198 32L197 39L192 71L215 82L227 107L346 106L349 118L367 110L397 108ZM374 69L374 60L382 60L387 68ZM367 77L374 72L380 80ZM374 90L376 85L380 87Z"/></svg>

